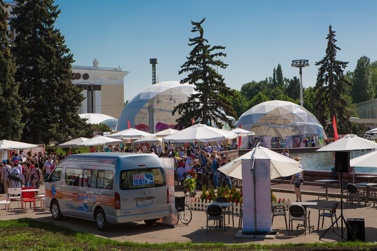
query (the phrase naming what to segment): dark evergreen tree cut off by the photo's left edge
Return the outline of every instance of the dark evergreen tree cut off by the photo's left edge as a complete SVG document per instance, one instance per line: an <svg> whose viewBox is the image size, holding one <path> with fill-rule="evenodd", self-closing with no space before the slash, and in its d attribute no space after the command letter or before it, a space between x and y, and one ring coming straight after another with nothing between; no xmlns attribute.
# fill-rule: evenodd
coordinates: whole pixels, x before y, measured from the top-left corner
<svg viewBox="0 0 377 251"><path fill-rule="evenodd" d="M21 120L21 103L18 96L19 83L15 83L16 65L9 48L12 38L6 19L8 4L0 0L0 139L18 141L24 126Z"/></svg>

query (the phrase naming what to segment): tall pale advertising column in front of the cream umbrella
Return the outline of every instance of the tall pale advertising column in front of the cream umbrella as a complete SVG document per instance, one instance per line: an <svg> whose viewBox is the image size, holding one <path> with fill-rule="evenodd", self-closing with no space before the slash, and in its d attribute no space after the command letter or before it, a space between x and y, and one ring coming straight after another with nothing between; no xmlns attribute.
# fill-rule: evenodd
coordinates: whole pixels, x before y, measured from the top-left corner
<svg viewBox="0 0 377 251"><path fill-rule="evenodd" d="M251 165L253 160L242 160L242 180L243 182L243 228L242 234L250 234L253 231L271 231L271 166L270 160L255 160L256 191L254 193L253 172ZM254 194L256 194L256 221L254 218Z"/></svg>

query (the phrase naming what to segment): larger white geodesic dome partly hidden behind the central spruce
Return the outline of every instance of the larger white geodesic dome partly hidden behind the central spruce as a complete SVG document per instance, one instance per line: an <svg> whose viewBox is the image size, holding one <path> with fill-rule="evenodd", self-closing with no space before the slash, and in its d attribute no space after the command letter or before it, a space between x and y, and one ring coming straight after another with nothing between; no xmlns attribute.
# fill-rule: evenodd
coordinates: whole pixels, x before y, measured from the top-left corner
<svg viewBox="0 0 377 251"><path fill-rule="evenodd" d="M179 114L172 115L174 106L186 102L194 91L195 85L180 84L179 81L164 81L151 85L140 91L124 107L116 127L116 131L128 129L128 121L132 128L149 131L148 99L156 99L156 132L174 128Z"/></svg>

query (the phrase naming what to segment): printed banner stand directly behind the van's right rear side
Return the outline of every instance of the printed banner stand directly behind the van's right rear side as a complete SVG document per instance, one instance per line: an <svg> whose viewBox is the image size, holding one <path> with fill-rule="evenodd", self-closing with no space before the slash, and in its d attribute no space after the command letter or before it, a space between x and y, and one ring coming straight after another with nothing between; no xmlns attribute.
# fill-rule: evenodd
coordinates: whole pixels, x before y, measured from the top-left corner
<svg viewBox="0 0 377 251"><path fill-rule="evenodd" d="M169 187L169 210L170 214L166 218L159 219L156 224L175 228L175 194L174 194L174 159L159 158L164 167L167 185Z"/></svg>

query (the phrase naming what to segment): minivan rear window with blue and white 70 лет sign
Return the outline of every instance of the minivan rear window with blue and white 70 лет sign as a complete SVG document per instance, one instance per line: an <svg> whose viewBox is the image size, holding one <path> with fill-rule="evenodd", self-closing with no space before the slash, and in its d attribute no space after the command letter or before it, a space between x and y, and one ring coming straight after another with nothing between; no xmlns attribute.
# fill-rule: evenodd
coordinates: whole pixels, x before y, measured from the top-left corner
<svg viewBox="0 0 377 251"><path fill-rule="evenodd" d="M166 186L166 178L161 167L123 170L120 173L120 189L142 189Z"/></svg>

